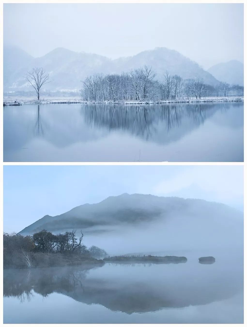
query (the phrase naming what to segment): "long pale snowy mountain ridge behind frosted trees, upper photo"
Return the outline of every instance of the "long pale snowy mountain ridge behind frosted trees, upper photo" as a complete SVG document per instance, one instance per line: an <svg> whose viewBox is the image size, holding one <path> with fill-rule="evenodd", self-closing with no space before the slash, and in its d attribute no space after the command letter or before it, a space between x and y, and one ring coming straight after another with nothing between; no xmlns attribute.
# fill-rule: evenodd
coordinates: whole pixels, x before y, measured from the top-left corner
<svg viewBox="0 0 247 327"><path fill-rule="evenodd" d="M79 53L64 48L56 48L40 58L33 58L19 48L5 46L4 91L31 90L23 76L34 66L43 67L54 80L46 84L46 90L61 91L79 90L80 80L94 73L121 73L144 64L153 67L159 80L168 70L171 74L180 75L184 79L199 77L210 85L218 83L215 77L196 62L165 47L142 51L132 57L111 60L97 54Z"/></svg>

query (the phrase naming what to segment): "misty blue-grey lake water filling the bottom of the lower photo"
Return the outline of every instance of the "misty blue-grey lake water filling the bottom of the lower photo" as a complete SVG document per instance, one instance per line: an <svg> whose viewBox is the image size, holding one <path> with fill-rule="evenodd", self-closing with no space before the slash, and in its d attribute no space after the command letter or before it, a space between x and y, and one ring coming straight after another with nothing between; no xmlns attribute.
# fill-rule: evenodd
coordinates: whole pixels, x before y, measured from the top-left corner
<svg viewBox="0 0 247 327"><path fill-rule="evenodd" d="M241 252L241 251L240 251ZM4 270L4 323L243 323L243 258Z"/></svg>

